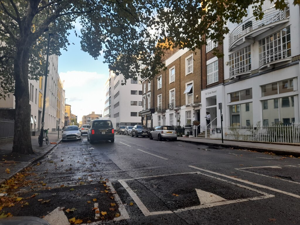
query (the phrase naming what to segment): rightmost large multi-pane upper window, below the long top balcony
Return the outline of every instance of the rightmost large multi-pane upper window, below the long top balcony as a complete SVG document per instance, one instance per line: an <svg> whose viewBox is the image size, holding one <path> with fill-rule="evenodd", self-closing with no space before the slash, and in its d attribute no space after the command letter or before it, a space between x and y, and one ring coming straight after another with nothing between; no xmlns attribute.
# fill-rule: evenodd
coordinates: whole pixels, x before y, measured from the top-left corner
<svg viewBox="0 0 300 225"><path fill-rule="evenodd" d="M263 66L269 62L288 58L291 56L291 34L290 27L265 37L258 41L259 65Z"/></svg>

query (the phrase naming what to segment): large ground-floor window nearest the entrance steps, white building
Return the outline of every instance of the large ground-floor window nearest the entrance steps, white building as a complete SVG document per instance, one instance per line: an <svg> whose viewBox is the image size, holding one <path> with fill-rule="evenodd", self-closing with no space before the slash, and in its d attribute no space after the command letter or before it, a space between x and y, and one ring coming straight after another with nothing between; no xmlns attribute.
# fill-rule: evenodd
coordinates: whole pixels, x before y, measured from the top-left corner
<svg viewBox="0 0 300 225"><path fill-rule="evenodd" d="M252 102L237 104L229 107L231 126L250 126L253 125Z"/></svg>

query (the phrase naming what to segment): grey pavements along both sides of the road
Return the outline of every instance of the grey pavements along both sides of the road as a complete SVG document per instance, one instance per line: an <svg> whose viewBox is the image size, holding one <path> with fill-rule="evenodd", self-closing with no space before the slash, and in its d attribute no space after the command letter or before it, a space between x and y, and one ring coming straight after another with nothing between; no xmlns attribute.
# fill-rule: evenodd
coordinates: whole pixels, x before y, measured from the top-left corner
<svg viewBox="0 0 300 225"><path fill-rule="evenodd" d="M61 137L61 133L59 135ZM58 137L57 132L49 132L49 144L43 143L40 147L38 144L38 136L31 137L32 148L34 154L22 155L12 153L13 143L0 144L0 184L6 182L16 173L22 172L25 168L30 167L32 164L38 162L41 158L48 154L59 142L61 138ZM214 146L220 148L233 148L245 149L257 152L268 152L276 155L285 155L300 157L300 144L270 144L270 143L254 143L254 142L241 142L217 139L205 139L197 137L178 137L178 141L188 142L198 145ZM50 144L54 143L54 144Z"/></svg>

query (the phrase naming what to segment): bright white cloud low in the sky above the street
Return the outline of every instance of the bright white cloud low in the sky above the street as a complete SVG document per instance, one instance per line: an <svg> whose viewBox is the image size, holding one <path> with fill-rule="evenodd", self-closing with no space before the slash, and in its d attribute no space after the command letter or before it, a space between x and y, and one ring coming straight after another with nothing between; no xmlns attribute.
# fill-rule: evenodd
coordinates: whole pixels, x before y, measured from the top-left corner
<svg viewBox="0 0 300 225"><path fill-rule="evenodd" d="M105 82L107 75L86 72L67 71L59 74L64 80L66 104L71 105L71 113L77 116L77 121L82 120L82 116L91 112L103 113L105 104Z"/></svg>

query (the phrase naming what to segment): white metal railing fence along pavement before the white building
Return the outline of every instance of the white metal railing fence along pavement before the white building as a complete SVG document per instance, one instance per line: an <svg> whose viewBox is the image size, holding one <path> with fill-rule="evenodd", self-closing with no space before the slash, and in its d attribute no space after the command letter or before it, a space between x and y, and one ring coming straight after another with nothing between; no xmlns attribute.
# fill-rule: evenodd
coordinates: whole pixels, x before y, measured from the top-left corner
<svg viewBox="0 0 300 225"><path fill-rule="evenodd" d="M221 139L221 134L216 132L217 129L221 129L221 127L211 127L211 138ZM263 127L223 127L223 139L270 143L300 143L300 124L276 124Z"/></svg>

